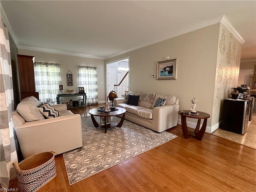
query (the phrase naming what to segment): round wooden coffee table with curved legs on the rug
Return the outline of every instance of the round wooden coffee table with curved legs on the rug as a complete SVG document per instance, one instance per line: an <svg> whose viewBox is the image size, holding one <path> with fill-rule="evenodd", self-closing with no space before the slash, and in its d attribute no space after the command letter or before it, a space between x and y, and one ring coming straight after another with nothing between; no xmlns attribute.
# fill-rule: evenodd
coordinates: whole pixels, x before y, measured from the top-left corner
<svg viewBox="0 0 256 192"><path fill-rule="evenodd" d="M93 108L93 109L89 110L89 114L91 115L94 127L99 127L99 124L95 120L94 116L99 116L100 118L102 118L102 117L104 118L104 121L103 121L104 125L102 125L100 127L105 128L105 133L107 132L107 128L122 127L126 110L121 107L116 107L115 109L117 109L117 110L110 111L110 112L105 112L105 111L99 112L98 110L100 110L100 108ZM110 118L112 116L118 116L118 115L122 115L122 114L123 114L123 116L119 123L114 122L114 121L110 121L110 122L108 121L108 117Z"/></svg>

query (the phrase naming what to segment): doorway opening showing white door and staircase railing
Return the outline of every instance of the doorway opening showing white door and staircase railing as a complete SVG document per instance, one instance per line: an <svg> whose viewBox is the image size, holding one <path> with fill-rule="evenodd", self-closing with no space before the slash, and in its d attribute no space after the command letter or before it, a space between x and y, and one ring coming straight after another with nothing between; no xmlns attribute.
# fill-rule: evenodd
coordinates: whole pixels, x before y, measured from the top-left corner
<svg viewBox="0 0 256 192"><path fill-rule="evenodd" d="M115 60L112 62L106 63L106 96L114 90L117 92L116 94L118 97L122 97L121 94L119 94L118 90L116 90L116 87L114 85L118 85L121 80L124 78L126 73L129 71L130 66L130 57L122 58L120 60ZM126 75L125 77L126 82L125 84L122 84L122 88L128 90L129 89L129 75Z"/></svg>

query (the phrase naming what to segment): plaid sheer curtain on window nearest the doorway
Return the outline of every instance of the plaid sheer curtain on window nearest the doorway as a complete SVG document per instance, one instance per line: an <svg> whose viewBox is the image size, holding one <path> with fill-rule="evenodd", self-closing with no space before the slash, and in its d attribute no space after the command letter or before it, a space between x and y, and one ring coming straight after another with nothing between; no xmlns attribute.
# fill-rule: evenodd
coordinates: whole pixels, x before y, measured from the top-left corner
<svg viewBox="0 0 256 192"><path fill-rule="evenodd" d="M86 92L86 105L98 104L98 85L96 67L78 66L79 86Z"/></svg>

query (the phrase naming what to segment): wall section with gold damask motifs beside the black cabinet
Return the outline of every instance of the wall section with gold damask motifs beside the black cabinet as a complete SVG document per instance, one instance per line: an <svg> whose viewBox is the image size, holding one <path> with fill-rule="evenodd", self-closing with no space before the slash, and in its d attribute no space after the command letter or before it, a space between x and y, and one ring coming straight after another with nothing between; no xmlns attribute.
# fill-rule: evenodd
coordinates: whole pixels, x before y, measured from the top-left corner
<svg viewBox="0 0 256 192"><path fill-rule="evenodd" d="M212 126L221 120L222 104L230 98L232 87L237 87L242 44L220 23Z"/></svg>

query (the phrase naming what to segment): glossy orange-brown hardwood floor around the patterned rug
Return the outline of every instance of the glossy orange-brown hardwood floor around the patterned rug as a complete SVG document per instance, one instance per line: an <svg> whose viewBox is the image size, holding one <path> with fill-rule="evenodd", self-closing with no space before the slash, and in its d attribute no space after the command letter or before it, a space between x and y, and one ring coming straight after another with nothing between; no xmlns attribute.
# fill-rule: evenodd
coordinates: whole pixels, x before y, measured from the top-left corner
<svg viewBox="0 0 256 192"><path fill-rule="evenodd" d="M72 112L88 116L90 108ZM38 192L256 191L256 150L211 134L202 141L185 139L180 125L168 132L178 137L71 186L58 155L57 176ZM16 187L17 181L10 181L10 188Z"/></svg>

